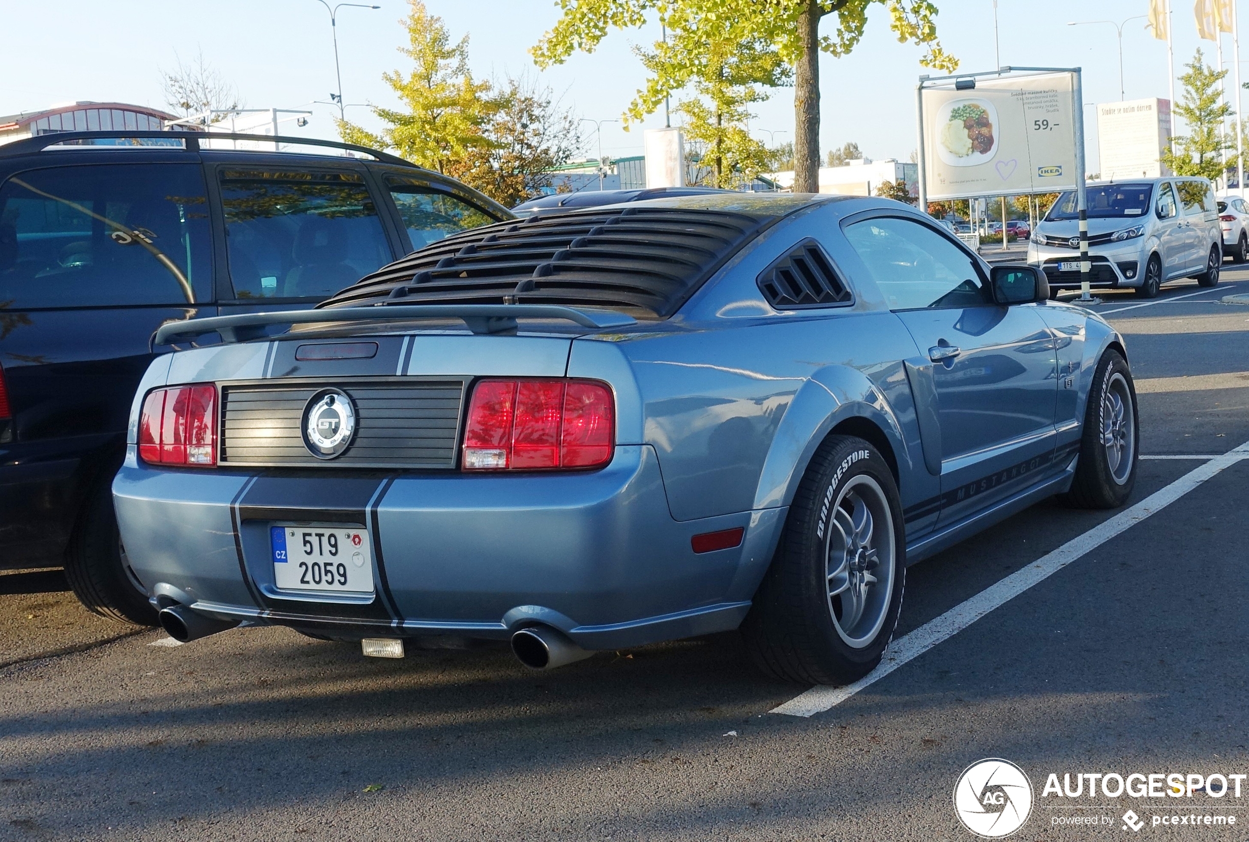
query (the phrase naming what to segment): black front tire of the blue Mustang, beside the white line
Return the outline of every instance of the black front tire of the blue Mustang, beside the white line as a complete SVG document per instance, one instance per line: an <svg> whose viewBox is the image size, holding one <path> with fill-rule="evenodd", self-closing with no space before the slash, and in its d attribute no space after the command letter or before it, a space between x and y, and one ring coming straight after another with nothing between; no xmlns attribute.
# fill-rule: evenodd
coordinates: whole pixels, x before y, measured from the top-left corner
<svg viewBox="0 0 1249 842"><path fill-rule="evenodd" d="M1103 414L1107 411L1104 397L1115 375L1120 375L1125 381L1132 406L1132 463L1123 482L1115 481L1102 440ZM1080 456L1075 465L1075 477L1065 497L1068 503L1078 508L1118 508L1127 502L1137 483L1137 463L1140 453L1139 419L1137 390L1128 364L1117 351L1108 350L1093 372L1088 407L1084 411L1084 430L1080 436Z"/></svg>

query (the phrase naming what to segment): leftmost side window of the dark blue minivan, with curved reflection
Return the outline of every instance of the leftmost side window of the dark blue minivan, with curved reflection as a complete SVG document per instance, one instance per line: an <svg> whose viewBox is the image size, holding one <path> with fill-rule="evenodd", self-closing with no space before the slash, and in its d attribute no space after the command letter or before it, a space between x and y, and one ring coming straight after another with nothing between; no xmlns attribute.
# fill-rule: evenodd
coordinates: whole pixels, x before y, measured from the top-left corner
<svg viewBox="0 0 1249 842"><path fill-rule="evenodd" d="M210 300L207 209L194 164L19 172L0 189L0 309Z"/></svg>

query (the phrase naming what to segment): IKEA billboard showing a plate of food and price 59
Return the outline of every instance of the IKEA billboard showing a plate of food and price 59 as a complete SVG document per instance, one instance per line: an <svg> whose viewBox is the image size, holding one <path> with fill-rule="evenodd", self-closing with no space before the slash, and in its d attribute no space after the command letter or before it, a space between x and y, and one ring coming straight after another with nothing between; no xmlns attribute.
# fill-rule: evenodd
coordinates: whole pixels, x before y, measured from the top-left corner
<svg viewBox="0 0 1249 842"><path fill-rule="evenodd" d="M1075 189L1073 87L1070 72L923 86L928 200Z"/></svg>

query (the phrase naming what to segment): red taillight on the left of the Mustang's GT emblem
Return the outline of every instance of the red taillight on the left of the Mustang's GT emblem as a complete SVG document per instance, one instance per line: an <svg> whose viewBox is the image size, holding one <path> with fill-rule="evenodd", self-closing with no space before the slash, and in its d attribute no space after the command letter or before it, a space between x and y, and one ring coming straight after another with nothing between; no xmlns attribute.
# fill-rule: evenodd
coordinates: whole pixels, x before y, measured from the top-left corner
<svg viewBox="0 0 1249 842"><path fill-rule="evenodd" d="M196 384L149 392L139 415L139 457L152 465L216 465L217 387Z"/></svg>

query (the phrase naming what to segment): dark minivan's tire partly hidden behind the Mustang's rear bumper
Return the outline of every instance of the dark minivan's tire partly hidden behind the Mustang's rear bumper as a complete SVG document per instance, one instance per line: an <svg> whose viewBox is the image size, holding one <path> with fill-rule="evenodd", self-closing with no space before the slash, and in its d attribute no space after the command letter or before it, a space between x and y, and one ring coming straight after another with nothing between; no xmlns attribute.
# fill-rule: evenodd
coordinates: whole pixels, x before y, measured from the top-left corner
<svg viewBox="0 0 1249 842"><path fill-rule="evenodd" d="M131 581L121 556L112 493L87 500L65 551L65 577L87 610L134 626L159 626L156 610Z"/></svg>

